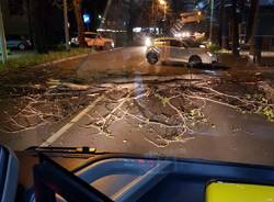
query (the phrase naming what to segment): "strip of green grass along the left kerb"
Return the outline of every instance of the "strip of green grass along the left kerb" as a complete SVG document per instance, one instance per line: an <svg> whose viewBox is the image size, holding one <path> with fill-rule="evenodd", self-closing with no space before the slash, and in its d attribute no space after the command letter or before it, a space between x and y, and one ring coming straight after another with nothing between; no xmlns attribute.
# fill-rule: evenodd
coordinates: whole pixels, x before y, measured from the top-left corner
<svg viewBox="0 0 274 202"><path fill-rule="evenodd" d="M19 57L10 57L8 58L7 64L0 64L0 69L14 69L14 68L24 68L31 67L38 64L44 64L48 61L54 61L57 59L71 57L81 54L91 53L89 48L73 48L70 52L50 52L48 54L35 54L35 53L26 53L22 54Z"/></svg>

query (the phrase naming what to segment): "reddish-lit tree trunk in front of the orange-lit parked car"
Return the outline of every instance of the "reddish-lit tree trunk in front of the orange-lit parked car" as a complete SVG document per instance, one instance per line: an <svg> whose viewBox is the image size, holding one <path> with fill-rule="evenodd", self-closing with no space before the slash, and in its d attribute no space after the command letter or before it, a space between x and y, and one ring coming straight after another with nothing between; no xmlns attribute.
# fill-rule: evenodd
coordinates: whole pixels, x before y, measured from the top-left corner
<svg viewBox="0 0 274 202"><path fill-rule="evenodd" d="M77 22L78 35L79 35L79 46L87 47L87 42L84 40L84 25L82 20L82 0L73 0L73 10Z"/></svg>

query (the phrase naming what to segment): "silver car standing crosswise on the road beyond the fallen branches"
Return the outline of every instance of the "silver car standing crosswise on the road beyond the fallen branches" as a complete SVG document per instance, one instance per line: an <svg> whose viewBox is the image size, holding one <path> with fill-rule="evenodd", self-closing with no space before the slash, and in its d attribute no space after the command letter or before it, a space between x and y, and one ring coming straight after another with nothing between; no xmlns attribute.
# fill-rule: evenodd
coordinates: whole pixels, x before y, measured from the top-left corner
<svg viewBox="0 0 274 202"><path fill-rule="evenodd" d="M149 44L146 57L151 65L158 61L181 61L190 66L217 63L216 54L192 38L162 37L146 44Z"/></svg>

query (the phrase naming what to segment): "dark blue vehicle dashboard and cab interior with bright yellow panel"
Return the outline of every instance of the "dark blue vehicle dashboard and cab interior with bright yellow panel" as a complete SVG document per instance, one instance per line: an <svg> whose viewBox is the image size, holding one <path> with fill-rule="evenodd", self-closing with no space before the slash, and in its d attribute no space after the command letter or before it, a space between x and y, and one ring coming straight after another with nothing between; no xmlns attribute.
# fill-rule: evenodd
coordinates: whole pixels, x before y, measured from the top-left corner
<svg viewBox="0 0 274 202"><path fill-rule="evenodd" d="M19 166L22 159L18 160L12 150L1 146L1 201L13 201L15 198L18 201L36 202L240 202L252 198L258 201L274 199L272 167L100 154L90 156L83 164L69 171L58 164L56 154L58 150L64 153L71 149L32 148L31 153L28 150L23 156L19 155L19 158L27 156L36 158L36 164L31 167L31 176L24 176L24 179L32 181L31 188L26 189L23 187L24 182L18 181L24 170L24 165ZM69 158L73 160L76 157ZM66 157L62 156L62 158Z"/></svg>

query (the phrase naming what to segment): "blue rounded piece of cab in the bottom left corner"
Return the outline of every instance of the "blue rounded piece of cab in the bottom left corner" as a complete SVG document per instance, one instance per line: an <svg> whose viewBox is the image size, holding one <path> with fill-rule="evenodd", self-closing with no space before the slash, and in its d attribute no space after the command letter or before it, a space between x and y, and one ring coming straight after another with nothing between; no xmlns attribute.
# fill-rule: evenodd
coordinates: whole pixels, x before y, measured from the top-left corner
<svg viewBox="0 0 274 202"><path fill-rule="evenodd" d="M16 195L19 162L15 154L0 145L0 202L13 202Z"/></svg>

